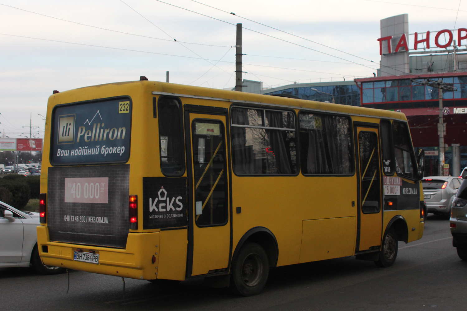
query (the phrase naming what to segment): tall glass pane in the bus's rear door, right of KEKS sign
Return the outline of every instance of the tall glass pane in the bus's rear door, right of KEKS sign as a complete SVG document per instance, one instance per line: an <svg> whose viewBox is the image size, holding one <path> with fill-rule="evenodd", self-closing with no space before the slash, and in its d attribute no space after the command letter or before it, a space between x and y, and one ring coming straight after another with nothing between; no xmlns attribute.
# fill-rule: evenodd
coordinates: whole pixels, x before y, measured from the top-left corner
<svg viewBox="0 0 467 311"><path fill-rule="evenodd" d="M192 130L196 224L225 224L228 204L223 124L195 120Z"/></svg>

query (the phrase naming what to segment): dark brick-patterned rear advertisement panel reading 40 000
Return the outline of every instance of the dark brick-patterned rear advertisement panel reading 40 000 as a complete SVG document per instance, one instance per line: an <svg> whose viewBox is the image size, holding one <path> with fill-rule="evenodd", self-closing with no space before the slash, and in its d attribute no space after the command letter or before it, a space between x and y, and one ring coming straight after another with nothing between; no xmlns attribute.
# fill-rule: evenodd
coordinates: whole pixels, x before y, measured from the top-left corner
<svg viewBox="0 0 467 311"><path fill-rule="evenodd" d="M50 241L125 248L129 165L49 167Z"/></svg>

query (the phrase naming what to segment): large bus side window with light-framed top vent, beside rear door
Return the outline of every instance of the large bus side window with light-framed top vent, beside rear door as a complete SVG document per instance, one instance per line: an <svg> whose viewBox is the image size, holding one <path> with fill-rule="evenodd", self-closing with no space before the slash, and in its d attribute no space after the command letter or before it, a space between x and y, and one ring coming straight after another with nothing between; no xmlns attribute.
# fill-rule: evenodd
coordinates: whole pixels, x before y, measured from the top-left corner
<svg viewBox="0 0 467 311"><path fill-rule="evenodd" d="M233 107L231 115L235 174L297 173L293 112Z"/></svg>

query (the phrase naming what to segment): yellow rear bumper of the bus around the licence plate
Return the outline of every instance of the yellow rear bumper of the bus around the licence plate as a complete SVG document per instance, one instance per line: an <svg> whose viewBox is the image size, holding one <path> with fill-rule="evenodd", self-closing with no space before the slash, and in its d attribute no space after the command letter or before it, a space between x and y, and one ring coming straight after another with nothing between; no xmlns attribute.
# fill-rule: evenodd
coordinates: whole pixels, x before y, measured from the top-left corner
<svg viewBox="0 0 467 311"><path fill-rule="evenodd" d="M159 244L159 232L130 232L126 249L50 242L48 228L45 226L37 227L37 246L39 256L44 264L112 276L141 280L156 279ZM47 246L47 248L42 246ZM75 261L73 257L77 249L82 249L83 252L95 251L96 254L99 254L99 263Z"/></svg>

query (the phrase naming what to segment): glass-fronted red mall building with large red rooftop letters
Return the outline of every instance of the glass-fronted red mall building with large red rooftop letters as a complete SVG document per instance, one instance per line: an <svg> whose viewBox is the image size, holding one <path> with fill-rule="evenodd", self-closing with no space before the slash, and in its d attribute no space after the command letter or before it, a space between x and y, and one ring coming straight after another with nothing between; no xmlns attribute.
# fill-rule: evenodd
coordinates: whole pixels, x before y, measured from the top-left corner
<svg viewBox="0 0 467 311"><path fill-rule="evenodd" d="M466 45L466 28L410 34L408 14L397 15L381 20L381 37L374 45L381 62L375 77L272 89L256 85L245 91L401 111L409 120L415 149L425 149L425 176L429 176L437 175L439 167L439 89L423 83L442 80L456 88L443 90L442 101L445 164L451 175L458 176L467 166Z"/></svg>

